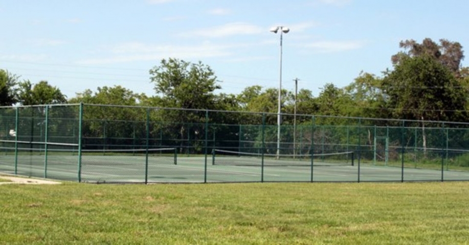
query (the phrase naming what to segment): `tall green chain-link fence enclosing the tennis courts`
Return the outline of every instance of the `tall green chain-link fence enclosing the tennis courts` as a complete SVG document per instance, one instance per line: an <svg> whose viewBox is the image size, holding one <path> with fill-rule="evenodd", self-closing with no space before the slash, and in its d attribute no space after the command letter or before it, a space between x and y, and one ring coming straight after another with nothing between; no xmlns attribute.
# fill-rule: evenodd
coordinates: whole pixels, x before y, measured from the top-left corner
<svg viewBox="0 0 469 245"><path fill-rule="evenodd" d="M93 183L469 180L469 124L110 105L0 108L0 173Z"/></svg>

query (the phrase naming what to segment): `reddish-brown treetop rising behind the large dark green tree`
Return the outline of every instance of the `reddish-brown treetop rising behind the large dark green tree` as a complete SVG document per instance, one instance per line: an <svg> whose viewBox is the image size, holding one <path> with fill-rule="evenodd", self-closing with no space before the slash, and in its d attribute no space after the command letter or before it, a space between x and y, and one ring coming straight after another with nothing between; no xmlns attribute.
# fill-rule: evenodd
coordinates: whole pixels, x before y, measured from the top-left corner
<svg viewBox="0 0 469 245"><path fill-rule="evenodd" d="M399 52L393 55L391 57L392 63L399 64L407 58L428 56L439 61L459 78L461 76L461 61L464 59L462 45L459 42L451 42L446 39L440 39L439 41L439 44L430 38L423 39L421 44L413 39L401 41L399 47L405 48L407 52Z"/></svg>

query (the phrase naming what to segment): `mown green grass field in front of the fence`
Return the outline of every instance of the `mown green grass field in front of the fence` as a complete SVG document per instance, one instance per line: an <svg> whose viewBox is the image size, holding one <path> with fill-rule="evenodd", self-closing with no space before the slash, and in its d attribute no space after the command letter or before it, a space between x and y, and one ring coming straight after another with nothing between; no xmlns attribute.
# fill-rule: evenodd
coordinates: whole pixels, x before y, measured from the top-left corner
<svg viewBox="0 0 469 245"><path fill-rule="evenodd" d="M455 244L469 182L0 185L0 244Z"/></svg>

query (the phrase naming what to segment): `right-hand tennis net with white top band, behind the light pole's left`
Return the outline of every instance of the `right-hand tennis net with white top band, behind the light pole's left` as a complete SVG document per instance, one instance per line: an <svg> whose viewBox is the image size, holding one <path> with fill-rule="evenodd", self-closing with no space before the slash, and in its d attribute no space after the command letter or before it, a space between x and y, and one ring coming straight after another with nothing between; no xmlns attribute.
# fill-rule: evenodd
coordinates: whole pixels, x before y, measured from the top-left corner
<svg viewBox="0 0 469 245"><path fill-rule="evenodd" d="M276 155L217 150L212 165L232 166L353 166L353 152L314 155Z"/></svg>

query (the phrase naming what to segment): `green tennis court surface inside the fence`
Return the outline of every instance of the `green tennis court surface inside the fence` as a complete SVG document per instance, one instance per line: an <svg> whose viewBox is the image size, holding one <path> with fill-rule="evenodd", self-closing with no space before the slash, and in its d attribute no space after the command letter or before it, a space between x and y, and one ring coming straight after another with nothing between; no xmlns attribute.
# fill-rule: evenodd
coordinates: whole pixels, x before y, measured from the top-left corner
<svg viewBox="0 0 469 245"><path fill-rule="evenodd" d="M0 156L4 173L59 180L78 180L77 156ZM240 158L244 159L244 158ZM42 161L41 161L42 160ZM82 156L82 182L92 183L205 183L205 182L310 182L310 181L455 181L469 180L469 171L391 167L359 164L311 166L213 165L211 156ZM316 165L318 164L318 165Z"/></svg>

